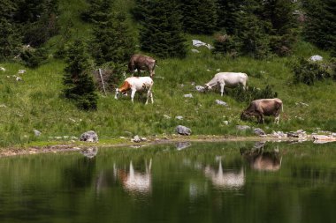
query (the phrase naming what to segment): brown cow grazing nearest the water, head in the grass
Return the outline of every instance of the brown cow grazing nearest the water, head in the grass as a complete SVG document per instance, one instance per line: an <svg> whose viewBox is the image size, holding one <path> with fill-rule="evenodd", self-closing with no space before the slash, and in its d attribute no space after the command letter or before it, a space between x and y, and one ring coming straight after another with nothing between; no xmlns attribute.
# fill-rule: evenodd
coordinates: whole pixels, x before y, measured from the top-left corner
<svg viewBox="0 0 336 223"><path fill-rule="evenodd" d="M256 116L258 122L261 123L263 116L274 116L274 123L279 124L280 109L283 110L282 100L279 99L258 99L253 100L248 108L241 113L241 119L248 119L250 116Z"/></svg>

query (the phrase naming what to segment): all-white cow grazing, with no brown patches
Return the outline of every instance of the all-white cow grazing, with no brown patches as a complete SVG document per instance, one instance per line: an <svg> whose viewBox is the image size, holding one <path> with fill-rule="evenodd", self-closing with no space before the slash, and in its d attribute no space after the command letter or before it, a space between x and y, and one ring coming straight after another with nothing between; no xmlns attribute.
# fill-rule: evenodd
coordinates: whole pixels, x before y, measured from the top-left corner
<svg viewBox="0 0 336 223"><path fill-rule="evenodd" d="M215 77L205 84L205 88L211 89L218 84L220 85L221 96L223 96L224 93L224 86L235 87L237 85L242 85L244 90L246 90L248 75L246 73L220 72L215 74Z"/></svg>

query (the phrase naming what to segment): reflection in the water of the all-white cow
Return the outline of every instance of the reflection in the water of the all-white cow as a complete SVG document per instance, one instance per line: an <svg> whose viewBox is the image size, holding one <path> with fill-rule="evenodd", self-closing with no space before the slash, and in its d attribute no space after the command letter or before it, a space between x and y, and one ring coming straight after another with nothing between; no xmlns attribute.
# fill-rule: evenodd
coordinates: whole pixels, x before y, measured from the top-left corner
<svg viewBox="0 0 336 223"><path fill-rule="evenodd" d="M221 160L219 160L218 170L207 165L204 169L204 174L218 188L241 188L245 184L244 170L242 168L239 172L223 170Z"/></svg>

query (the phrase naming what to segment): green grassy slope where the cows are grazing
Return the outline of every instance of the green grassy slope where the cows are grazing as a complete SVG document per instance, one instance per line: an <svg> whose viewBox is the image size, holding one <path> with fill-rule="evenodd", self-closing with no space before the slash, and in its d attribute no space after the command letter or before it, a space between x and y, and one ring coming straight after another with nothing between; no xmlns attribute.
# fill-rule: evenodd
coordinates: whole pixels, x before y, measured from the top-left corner
<svg viewBox="0 0 336 223"><path fill-rule="evenodd" d="M80 35L88 38L90 26L80 22L80 11L85 9L84 0L60 1L61 24L72 19ZM66 6L66 7L65 7ZM123 10L127 8L121 7ZM59 36L52 41L57 41ZM187 44L198 39L211 43L211 36L187 36ZM52 45L51 43L49 43ZM43 141L55 141L55 137L80 137L87 130L95 130L102 140L128 137L133 135L152 136L173 134L177 125L191 128L194 135L233 135L244 136L252 132L241 132L236 124L248 124L260 127L267 132L272 130L336 130L336 82L317 82L316 85L292 84L293 73L291 62L299 56L308 58L312 55L328 57L324 51L318 50L309 43L299 41L294 48L294 56L267 60L254 60L248 57L237 59L215 58L208 48L197 48L199 54L189 49L187 58L159 59L154 78L155 103L144 105L144 98L136 93L134 104L128 98L114 100L109 93L106 97L100 93L98 109L95 112L83 112L75 108L73 103L60 96L65 63L50 59L36 70L29 70L18 63L0 63L6 71L0 71L0 146L39 144ZM27 73L20 75L23 81L17 82L12 75L26 69ZM240 114L246 103L241 103L231 97L220 97L218 91L198 93L195 85L204 85L218 71L242 71L249 76L249 85L263 88L272 85L284 102L284 113L280 124L271 122L257 124L242 122ZM209 70L209 71L208 71ZM9 76L10 78L7 78ZM120 83L118 83L120 84ZM183 84L183 86L181 86ZM192 93L193 98L184 98L186 93ZM215 100L224 100L229 107L222 107ZM309 107L295 105L295 102L305 102ZM172 118L166 119L164 115ZM175 119L182 115L183 120ZM225 125L224 121L229 121ZM40 130L40 137L34 136L33 130Z"/></svg>

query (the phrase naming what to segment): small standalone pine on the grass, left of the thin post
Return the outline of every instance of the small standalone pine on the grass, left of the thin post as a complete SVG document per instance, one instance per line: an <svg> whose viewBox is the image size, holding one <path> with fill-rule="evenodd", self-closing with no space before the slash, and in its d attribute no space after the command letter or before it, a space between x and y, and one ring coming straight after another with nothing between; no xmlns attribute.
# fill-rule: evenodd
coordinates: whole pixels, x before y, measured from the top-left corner
<svg viewBox="0 0 336 223"><path fill-rule="evenodd" d="M83 41L77 40L70 45L65 61L65 98L73 100L80 109L96 109L98 97L92 74L89 72L89 56Z"/></svg>

